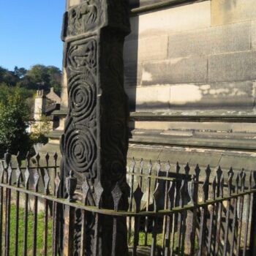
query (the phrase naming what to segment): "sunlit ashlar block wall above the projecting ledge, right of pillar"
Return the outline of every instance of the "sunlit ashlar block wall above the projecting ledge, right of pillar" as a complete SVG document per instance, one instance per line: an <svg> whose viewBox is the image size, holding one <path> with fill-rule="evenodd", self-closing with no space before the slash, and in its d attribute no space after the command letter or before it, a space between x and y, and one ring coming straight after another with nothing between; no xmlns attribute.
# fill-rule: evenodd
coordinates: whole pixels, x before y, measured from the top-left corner
<svg viewBox="0 0 256 256"><path fill-rule="evenodd" d="M255 0L166 7L131 23L124 59L132 110L254 110Z"/></svg>

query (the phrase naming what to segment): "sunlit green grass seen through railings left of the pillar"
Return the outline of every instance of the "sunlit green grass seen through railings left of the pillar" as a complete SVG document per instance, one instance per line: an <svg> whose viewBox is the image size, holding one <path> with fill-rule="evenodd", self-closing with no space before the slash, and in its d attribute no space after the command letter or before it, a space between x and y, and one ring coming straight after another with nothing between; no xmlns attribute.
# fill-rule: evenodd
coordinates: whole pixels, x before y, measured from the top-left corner
<svg viewBox="0 0 256 256"><path fill-rule="evenodd" d="M15 252L15 206L11 206L10 213L10 255L14 255ZM28 215L28 253L27 255L32 255L32 245L33 245L33 219L34 214L29 211ZM37 215L37 255L43 255L44 248L44 214L39 212ZM20 218L19 218L19 229L18 229L18 255L23 255L23 230L24 230L24 211L20 208ZM48 255L51 255L51 240L52 240L52 219L48 217Z"/></svg>

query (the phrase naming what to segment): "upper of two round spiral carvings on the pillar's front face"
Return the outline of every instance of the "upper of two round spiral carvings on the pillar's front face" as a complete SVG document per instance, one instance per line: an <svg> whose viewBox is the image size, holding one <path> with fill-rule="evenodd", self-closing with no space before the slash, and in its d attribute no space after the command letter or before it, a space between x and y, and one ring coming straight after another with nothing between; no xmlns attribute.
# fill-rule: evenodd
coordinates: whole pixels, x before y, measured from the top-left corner
<svg viewBox="0 0 256 256"><path fill-rule="evenodd" d="M74 118L88 118L96 106L95 85L83 75L77 75L69 81L69 102Z"/></svg>

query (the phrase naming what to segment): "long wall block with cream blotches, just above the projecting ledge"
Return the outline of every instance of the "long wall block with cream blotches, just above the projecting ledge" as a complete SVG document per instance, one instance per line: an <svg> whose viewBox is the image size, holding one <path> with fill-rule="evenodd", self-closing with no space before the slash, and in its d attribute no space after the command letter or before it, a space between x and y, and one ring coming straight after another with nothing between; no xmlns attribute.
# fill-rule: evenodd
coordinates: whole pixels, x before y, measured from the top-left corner
<svg viewBox="0 0 256 256"><path fill-rule="evenodd" d="M253 108L252 81L170 86L170 107Z"/></svg>

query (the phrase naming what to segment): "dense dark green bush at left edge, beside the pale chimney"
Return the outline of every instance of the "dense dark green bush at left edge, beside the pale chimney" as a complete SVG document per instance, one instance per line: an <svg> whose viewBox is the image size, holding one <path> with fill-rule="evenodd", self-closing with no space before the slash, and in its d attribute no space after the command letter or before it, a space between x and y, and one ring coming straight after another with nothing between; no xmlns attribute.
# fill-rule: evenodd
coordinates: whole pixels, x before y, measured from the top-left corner
<svg viewBox="0 0 256 256"><path fill-rule="evenodd" d="M0 99L0 156L9 148L10 153L26 152L30 148L29 106L20 88L1 90Z"/></svg>

